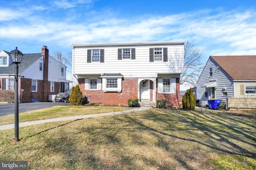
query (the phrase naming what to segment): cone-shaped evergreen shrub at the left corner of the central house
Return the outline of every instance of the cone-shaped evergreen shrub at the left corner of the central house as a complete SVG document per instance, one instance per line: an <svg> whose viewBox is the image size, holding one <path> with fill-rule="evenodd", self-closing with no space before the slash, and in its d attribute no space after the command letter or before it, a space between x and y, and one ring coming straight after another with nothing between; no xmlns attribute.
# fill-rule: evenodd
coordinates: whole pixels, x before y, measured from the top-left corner
<svg viewBox="0 0 256 170"><path fill-rule="evenodd" d="M79 85L73 86L69 96L70 105L79 106L83 104L83 94L80 91Z"/></svg>

